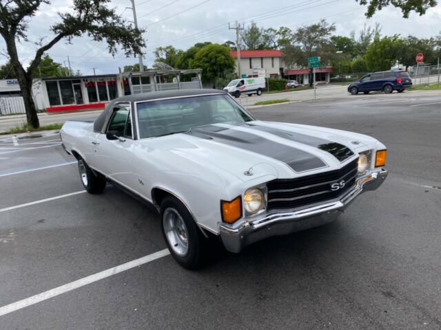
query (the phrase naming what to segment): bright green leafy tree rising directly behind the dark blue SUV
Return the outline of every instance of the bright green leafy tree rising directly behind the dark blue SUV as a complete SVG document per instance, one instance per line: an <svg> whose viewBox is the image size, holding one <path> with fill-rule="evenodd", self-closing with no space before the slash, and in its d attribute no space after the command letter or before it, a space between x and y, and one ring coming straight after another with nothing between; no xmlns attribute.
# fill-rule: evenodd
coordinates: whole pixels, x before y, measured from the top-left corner
<svg viewBox="0 0 441 330"><path fill-rule="evenodd" d="M372 72L390 70L400 58L400 50L402 50L402 39L398 34L376 37L365 54L367 68Z"/></svg>

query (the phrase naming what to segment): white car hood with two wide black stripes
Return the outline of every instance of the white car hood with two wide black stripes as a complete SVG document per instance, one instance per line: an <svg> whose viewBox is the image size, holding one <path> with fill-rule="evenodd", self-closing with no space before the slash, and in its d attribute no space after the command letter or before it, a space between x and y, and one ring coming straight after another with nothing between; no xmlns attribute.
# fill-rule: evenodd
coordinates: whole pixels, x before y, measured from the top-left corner
<svg viewBox="0 0 441 330"><path fill-rule="evenodd" d="M167 153L168 166L226 172L242 181L334 170L356 159L362 149L379 143L347 131L262 121L240 126L213 124L140 141L150 150L161 151L161 157Z"/></svg>

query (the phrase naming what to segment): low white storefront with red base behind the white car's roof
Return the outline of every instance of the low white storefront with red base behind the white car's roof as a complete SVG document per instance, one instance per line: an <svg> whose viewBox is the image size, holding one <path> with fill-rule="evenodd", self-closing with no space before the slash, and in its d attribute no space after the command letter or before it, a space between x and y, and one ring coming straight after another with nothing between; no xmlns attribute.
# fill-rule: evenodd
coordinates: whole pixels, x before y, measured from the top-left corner
<svg viewBox="0 0 441 330"><path fill-rule="evenodd" d="M128 72L99 76L34 79L37 109L48 113L104 109L121 96L170 89L201 89L201 70Z"/></svg>

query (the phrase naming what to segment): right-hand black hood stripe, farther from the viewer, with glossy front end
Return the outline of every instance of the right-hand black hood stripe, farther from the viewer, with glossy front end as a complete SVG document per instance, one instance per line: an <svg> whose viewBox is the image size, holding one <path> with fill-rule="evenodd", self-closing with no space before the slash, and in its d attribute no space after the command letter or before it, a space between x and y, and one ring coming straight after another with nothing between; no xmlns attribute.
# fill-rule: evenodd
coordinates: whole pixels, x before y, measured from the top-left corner
<svg viewBox="0 0 441 330"><path fill-rule="evenodd" d="M256 124L244 124L243 126L248 126L250 129L256 129L258 131L271 133L286 140L307 144L308 146L314 146L314 148L327 151L336 157L340 162L344 162L346 159L354 155L351 149L349 149L347 146L337 142L325 140L320 137L314 137L302 133L285 131L283 129L276 129L273 127L260 126Z"/></svg>

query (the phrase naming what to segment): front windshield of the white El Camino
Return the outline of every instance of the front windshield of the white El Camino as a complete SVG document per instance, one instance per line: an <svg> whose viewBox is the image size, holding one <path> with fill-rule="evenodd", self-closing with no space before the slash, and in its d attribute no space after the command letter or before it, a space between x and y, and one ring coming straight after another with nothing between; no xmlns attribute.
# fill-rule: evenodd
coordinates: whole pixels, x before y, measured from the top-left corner
<svg viewBox="0 0 441 330"><path fill-rule="evenodd" d="M227 95L194 96L136 104L140 138L189 131L209 124L254 120Z"/></svg>

